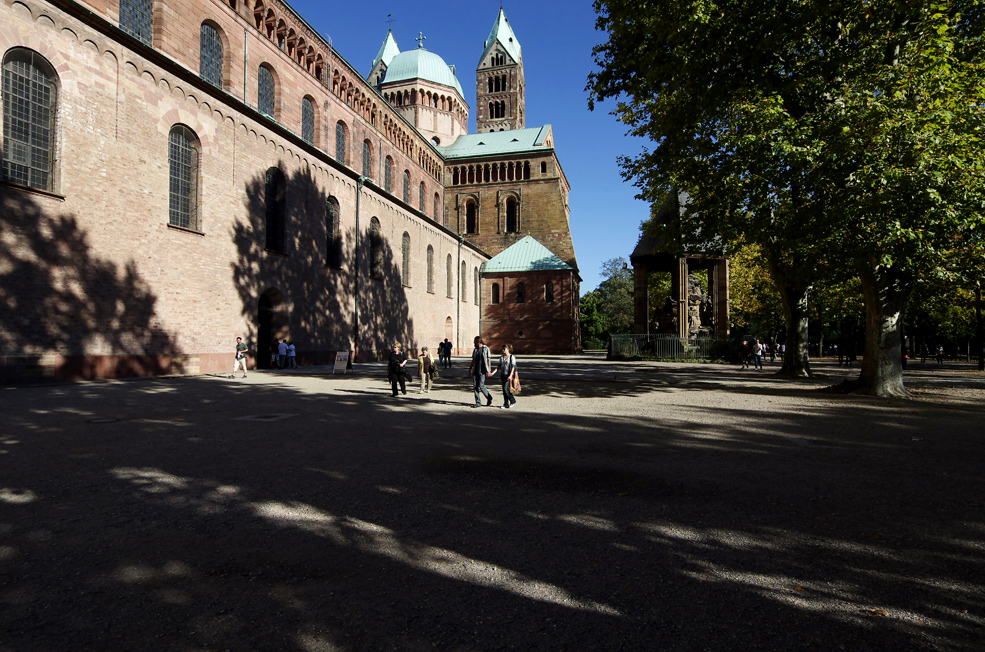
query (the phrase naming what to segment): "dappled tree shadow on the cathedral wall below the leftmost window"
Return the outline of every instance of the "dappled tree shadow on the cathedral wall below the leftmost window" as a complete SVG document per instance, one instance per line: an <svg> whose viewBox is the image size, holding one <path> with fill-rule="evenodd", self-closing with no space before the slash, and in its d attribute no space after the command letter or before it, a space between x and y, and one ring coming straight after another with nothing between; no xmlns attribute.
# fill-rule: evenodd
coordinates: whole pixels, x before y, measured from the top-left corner
<svg viewBox="0 0 985 652"><path fill-rule="evenodd" d="M130 260L100 258L74 215L0 186L0 381L181 373Z"/></svg>

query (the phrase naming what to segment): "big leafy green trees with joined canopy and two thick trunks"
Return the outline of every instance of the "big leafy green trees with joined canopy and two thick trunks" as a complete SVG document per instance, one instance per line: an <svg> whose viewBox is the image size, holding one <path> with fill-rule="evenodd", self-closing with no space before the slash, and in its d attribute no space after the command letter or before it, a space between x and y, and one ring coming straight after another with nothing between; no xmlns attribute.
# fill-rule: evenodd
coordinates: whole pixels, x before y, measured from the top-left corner
<svg viewBox="0 0 985 652"><path fill-rule="evenodd" d="M905 395L900 316L942 251L983 229L982 0L598 0L590 107L652 150L640 196L691 195L680 232L762 246L806 367L807 297L857 274L859 387Z"/></svg>

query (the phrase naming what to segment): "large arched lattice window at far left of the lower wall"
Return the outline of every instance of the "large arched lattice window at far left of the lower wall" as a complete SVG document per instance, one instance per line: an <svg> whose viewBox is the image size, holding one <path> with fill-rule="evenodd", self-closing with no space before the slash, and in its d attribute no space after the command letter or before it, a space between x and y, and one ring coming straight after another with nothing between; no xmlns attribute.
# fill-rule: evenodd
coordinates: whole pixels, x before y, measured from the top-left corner
<svg viewBox="0 0 985 652"><path fill-rule="evenodd" d="M32 50L15 48L3 58L4 181L54 190L55 69Z"/></svg>

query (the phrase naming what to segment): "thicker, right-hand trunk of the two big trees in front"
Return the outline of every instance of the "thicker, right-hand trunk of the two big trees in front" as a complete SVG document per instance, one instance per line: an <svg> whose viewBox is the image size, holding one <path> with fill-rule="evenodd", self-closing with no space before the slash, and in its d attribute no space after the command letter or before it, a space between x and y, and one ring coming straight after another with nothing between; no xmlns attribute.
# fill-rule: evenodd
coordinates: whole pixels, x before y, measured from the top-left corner
<svg viewBox="0 0 985 652"><path fill-rule="evenodd" d="M892 267L863 260L857 268L865 300L865 353L856 390L909 398L903 386L900 335L910 284Z"/></svg>

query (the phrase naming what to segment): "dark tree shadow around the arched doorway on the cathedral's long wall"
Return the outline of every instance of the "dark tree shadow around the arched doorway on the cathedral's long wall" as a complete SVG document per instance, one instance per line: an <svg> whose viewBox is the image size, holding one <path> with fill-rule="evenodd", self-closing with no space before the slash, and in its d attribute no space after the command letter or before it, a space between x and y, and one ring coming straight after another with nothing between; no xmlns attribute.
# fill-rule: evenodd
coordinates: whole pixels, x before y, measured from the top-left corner
<svg viewBox="0 0 985 652"><path fill-rule="evenodd" d="M413 333L410 309L398 259L385 239L380 246L381 273L370 275L372 215L364 211L360 216L357 261L354 228L340 229L337 240L330 241L330 196L319 189L310 172L297 171L282 179L282 188L268 193L266 173L254 175L246 184L247 222L238 222L232 229L239 252L232 265L233 281L242 314L253 325L251 349L255 345L255 350L264 353L273 339L283 336L297 347L301 364L326 364L336 351L350 350L354 339L364 360L380 357L394 339L407 341ZM372 191L363 190L367 192ZM283 237L268 239L268 226L277 227L276 217L268 218L268 203L274 202L282 206ZM339 221L351 224L354 219L343 213ZM358 327L353 312L353 270L357 268ZM284 323L277 323L275 317L268 335L261 333L260 300L271 288L283 295L286 305ZM260 341L261 337L271 341Z"/></svg>

